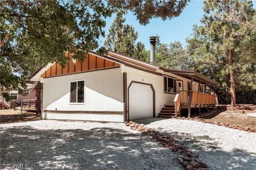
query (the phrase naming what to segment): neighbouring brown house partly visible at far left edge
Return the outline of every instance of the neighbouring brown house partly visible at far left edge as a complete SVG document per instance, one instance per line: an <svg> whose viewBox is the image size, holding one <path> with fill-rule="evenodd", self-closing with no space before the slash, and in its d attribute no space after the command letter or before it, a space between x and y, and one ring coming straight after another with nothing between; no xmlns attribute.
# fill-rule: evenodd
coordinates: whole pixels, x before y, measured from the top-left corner
<svg viewBox="0 0 256 170"><path fill-rule="evenodd" d="M7 102L2 96L2 92L7 92L12 100ZM32 83L27 83L27 89L23 91L23 94L19 94L18 90L4 90L1 91L0 94L0 108L10 108L11 102L15 103L17 106L21 106L25 105L26 103L34 105L36 101L35 84Z"/></svg>

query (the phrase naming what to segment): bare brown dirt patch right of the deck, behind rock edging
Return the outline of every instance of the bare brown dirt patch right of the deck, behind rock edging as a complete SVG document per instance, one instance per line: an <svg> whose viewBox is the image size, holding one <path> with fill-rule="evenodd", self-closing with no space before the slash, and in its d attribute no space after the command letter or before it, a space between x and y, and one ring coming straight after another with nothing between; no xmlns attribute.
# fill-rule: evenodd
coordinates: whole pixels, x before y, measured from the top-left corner
<svg viewBox="0 0 256 170"><path fill-rule="evenodd" d="M226 110L226 109L215 109L213 111L202 113L202 118L218 123L229 123L235 126L243 126L248 128L256 129L256 117L248 114L256 113L256 110Z"/></svg>

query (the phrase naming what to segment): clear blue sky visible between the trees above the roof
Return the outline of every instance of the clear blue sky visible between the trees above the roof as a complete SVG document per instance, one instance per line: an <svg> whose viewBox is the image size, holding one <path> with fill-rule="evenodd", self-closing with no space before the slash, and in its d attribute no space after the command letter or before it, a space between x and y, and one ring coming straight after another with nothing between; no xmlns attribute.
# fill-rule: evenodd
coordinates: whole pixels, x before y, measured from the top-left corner
<svg viewBox="0 0 256 170"><path fill-rule="evenodd" d="M256 1L253 1L254 7ZM186 38L192 33L193 24L199 24L199 20L203 17L203 1L191 1L184 8L180 16L172 20L152 19L150 23L143 26L136 20L135 16L129 12L125 15L126 23L133 25L135 31L138 32L137 41L145 44L146 49L149 49L149 37L159 35L161 43L171 43L173 41L180 41L184 46L186 45ZM105 27L106 35L111 23L114 21L115 15L107 19ZM102 43L105 41L101 39Z"/></svg>

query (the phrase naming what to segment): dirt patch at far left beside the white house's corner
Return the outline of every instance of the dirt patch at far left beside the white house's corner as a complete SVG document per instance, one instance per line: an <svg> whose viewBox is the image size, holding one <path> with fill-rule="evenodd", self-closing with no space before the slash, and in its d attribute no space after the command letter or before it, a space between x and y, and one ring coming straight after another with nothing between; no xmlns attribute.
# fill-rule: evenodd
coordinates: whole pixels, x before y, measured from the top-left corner
<svg viewBox="0 0 256 170"><path fill-rule="evenodd" d="M6 109L0 111L0 123L15 123L15 122L26 122L26 121L37 121L41 120L41 114L35 113L24 113L21 114L19 110Z"/></svg>

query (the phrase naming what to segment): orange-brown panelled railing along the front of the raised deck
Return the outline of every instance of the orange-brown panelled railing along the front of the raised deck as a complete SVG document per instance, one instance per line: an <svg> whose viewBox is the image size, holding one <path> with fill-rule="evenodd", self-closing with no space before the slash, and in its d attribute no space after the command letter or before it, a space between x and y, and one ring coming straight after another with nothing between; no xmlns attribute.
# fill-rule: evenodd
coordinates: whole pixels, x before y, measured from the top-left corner
<svg viewBox="0 0 256 170"><path fill-rule="evenodd" d="M180 104L188 105L188 106L208 106L215 105L215 95L212 94L204 94L202 92L193 91L193 90L183 90L179 92L180 94Z"/></svg>

